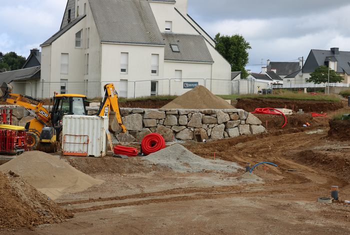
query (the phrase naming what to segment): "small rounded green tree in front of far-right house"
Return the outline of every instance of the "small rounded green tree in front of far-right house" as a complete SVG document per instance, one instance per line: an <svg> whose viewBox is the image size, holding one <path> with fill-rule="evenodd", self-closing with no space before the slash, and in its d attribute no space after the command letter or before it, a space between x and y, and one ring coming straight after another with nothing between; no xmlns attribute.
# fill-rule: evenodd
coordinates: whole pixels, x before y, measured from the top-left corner
<svg viewBox="0 0 350 235"><path fill-rule="evenodd" d="M329 82L341 82L343 79L344 78L341 77L339 73L333 69L329 69ZM316 67L315 70L310 73L310 78L307 79L307 82L314 82L315 84L328 82L328 67L324 65Z"/></svg>

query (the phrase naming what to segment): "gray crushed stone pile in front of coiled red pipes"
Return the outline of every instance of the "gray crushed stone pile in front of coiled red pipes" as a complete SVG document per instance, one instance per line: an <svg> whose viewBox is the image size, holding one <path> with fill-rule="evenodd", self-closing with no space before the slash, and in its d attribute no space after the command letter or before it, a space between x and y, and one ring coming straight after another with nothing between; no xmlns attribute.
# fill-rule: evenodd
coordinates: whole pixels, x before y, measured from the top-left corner
<svg viewBox="0 0 350 235"><path fill-rule="evenodd" d="M237 169L243 169L231 161L215 159L214 164L213 160L195 155L178 143L146 155L142 159L159 166L169 167L177 172L237 172Z"/></svg>

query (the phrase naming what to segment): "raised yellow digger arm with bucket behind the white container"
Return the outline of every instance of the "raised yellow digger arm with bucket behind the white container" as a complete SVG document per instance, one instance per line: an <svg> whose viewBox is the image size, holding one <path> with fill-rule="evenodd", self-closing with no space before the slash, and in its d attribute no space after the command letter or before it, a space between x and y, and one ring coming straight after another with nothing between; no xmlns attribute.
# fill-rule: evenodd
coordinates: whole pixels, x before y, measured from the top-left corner
<svg viewBox="0 0 350 235"><path fill-rule="evenodd" d="M105 84L104 96L99 106L97 115L109 117L109 130L114 133L125 133L126 127L123 125L118 104L118 94L112 83Z"/></svg>

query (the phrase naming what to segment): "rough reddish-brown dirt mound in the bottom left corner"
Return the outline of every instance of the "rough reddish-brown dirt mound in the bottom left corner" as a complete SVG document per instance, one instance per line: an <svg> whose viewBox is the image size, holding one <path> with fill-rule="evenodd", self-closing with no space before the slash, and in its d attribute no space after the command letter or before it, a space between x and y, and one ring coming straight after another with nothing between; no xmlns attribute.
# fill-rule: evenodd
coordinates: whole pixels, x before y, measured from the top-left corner
<svg viewBox="0 0 350 235"><path fill-rule="evenodd" d="M13 171L0 172L0 198L0 227L33 229L73 217Z"/></svg>

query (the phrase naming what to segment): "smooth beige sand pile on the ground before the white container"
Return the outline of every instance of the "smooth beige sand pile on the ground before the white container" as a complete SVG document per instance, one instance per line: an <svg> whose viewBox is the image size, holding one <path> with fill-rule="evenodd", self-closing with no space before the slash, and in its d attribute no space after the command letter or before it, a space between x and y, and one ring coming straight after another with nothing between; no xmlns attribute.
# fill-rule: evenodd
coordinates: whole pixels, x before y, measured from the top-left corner
<svg viewBox="0 0 350 235"><path fill-rule="evenodd" d="M82 191L104 181L80 172L68 163L42 151L27 151L0 165L0 171L12 170L50 199Z"/></svg>

